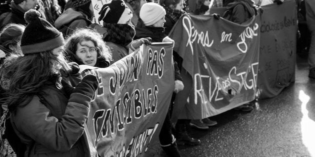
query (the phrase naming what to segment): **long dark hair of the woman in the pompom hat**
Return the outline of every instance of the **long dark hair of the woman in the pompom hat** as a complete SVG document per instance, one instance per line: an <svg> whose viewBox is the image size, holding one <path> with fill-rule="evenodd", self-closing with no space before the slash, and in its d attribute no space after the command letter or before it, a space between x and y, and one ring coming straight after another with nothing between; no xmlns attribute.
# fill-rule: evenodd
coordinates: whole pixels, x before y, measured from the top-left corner
<svg viewBox="0 0 315 157"><path fill-rule="evenodd" d="M34 95L41 93L44 84L52 82L57 88L61 86L60 70L65 64L63 55L58 57L52 51L25 54L17 57L6 67L9 77L7 97L0 103L7 105L10 113L15 113L16 107L27 105Z"/></svg>

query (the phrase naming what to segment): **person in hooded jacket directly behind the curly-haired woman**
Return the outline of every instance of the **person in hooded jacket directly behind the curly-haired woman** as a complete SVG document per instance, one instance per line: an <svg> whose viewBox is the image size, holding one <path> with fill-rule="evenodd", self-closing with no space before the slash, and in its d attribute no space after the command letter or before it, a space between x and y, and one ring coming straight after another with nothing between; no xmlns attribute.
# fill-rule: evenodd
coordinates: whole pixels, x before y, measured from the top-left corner
<svg viewBox="0 0 315 157"><path fill-rule="evenodd" d="M88 27L93 19L91 0L72 0L72 8L66 9L54 22L54 26L69 36L77 28Z"/></svg>

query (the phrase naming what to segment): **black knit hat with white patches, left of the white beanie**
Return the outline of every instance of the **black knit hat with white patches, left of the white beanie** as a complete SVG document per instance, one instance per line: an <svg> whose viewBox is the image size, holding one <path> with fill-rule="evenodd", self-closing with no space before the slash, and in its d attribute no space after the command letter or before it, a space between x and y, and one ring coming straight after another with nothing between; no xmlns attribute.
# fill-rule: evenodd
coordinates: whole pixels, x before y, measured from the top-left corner
<svg viewBox="0 0 315 157"><path fill-rule="evenodd" d="M123 0L105 3L98 14L98 21L103 20L104 23L127 24L132 18L132 11Z"/></svg>

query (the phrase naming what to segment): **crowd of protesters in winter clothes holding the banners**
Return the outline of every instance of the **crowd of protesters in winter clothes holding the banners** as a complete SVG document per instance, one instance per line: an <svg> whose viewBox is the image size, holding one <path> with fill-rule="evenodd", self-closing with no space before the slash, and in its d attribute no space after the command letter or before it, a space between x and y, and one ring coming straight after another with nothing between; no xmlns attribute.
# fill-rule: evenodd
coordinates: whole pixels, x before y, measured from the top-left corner
<svg viewBox="0 0 315 157"><path fill-rule="evenodd" d="M223 18L241 24L257 14L259 5L283 0L191 0L191 14L206 15L211 7L230 9ZM191 3L189 1L189 3ZM303 0L301 0L303 1ZM297 3L300 4L299 0ZM184 0L111 0L105 3L95 23L91 0L0 0L0 103L1 122L9 135L25 148L10 143L17 156L85 157L85 121L89 103L98 86L93 75L83 78L78 65L105 68L151 42L172 42L167 36L186 13ZM315 1L305 0L310 31L309 77L315 78ZM219 18L215 15L215 18ZM174 89L183 90L182 59L173 52ZM67 75L81 79L73 88ZM170 103L172 108L172 102ZM252 105L236 110L249 112ZM160 146L170 157L180 157L178 145L199 145L187 127L208 129L217 122L179 119L170 122L168 110L159 134ZM7 119L9 117L9 119ZM4 121L7 119L7 121ZM2 142L1 142L2 144ZM14 146L15 145L15 146ZM3 149L3 147L2 147ZM9 149L8 149L9 150ZM6 152L7 155L11 152Z"/></svg>

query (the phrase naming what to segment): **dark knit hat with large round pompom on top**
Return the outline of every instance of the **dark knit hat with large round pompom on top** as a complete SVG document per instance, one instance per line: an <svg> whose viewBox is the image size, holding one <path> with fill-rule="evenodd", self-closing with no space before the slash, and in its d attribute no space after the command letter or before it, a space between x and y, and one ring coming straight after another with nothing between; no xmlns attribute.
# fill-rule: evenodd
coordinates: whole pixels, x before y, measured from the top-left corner
<svg viewBox="0 0 315 157"><path fill-rule="evenodd" d="M37 10L26 11L24 19L28 24L21 38L23 54L49 51L64 44L62 34L45 19L40 18Z"/></svg>

